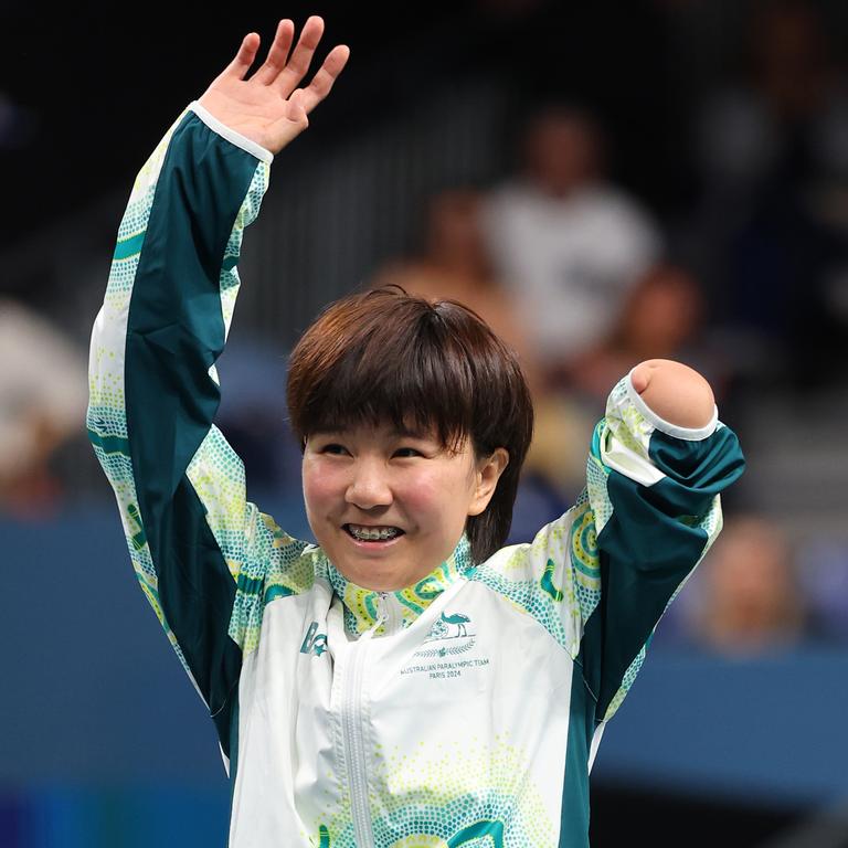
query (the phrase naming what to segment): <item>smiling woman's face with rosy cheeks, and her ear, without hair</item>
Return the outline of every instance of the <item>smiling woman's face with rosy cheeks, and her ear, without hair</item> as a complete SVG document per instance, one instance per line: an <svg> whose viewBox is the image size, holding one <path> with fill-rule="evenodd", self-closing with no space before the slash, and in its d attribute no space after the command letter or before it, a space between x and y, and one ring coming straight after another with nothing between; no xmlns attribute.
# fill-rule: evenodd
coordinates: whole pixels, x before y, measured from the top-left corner
<svg viewBox="0 0 848 848"><path fill-rule="evenodd" d="M497 448L475 462L468 438L451 454L431 434L404 435L390 424L314 433L303 462L309 526L352 583L404 589L451 555L468 516L486 509L507 458ZM364 528L401 532L353 538Z"/></svg>

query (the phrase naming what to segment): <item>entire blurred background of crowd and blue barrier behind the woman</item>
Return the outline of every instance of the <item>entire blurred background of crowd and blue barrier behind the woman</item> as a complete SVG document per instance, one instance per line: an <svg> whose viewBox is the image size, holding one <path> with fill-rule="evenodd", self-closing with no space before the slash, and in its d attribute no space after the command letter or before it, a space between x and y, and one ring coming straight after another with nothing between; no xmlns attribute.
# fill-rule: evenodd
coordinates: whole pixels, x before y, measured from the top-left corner
<svg viewBox="0 0 848 848"><path fill-rule="evenodd" d="M389 7L382 7L390 9ZM711 381L748 471L592 773L593 846L848 846L848 4L0 8L0 846L224 846L212 722L84 432L132 180L257 31L352 59L246 233L218 423L310 539L284 406L322 306L396 282L519 352L511 542L579 492L645 358ZM840 718L842 717L842 718Z"/></svg>

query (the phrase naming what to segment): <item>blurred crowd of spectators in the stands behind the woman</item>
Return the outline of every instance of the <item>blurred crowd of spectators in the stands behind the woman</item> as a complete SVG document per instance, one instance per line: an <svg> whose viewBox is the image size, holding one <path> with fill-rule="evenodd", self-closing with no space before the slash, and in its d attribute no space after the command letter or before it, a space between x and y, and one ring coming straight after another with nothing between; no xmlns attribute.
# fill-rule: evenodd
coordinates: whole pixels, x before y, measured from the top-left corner
<svg viewBox="0 0 848 848"><path fill-rule="evenodd" d="M512 173L434 194L417 255L386 258L369 280L459 300L518 353L537 425L513 541L579 494L606 395L644 359L699 370L731 423L752 390L803 398L845 377L846 78L809 3L766 4L751 32L746 64L696 110L686 220L660 221L616 184L598 116L551 99L523 127ZM0 303L0 510L44 515L72 494L52 463L84 427L85 351L11 300ZM268 457L278 358L227 350L220 373L219 424L248 480L296 490L294 442ZM725 515L658 644L750 655L848 639L848 552L798 550L755 504L730 501Z"/></svg>

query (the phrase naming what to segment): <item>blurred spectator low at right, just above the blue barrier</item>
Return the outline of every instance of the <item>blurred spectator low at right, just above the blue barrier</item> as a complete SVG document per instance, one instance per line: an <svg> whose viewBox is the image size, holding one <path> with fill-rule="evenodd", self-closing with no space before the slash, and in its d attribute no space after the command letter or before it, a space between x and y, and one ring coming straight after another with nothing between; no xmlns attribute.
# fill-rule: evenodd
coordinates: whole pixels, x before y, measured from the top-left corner
<svg viewBox="0 0 848 848"><path fill-rule="evenodd" d="M728 519L691 584L677 622L678 635L692 646L748 658L815 635L793 548L765 518Z"/></svg>

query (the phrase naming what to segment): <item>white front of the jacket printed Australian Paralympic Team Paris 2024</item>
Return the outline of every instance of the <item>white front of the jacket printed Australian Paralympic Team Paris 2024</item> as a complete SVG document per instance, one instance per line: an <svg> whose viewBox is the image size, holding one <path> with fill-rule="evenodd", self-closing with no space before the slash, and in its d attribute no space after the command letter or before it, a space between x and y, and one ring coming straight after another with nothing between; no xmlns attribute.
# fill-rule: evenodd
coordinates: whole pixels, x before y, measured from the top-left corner
<svg viewBox="0 0 848 848"><path fill-rule="evenodd" d="M401 597L346 584L319 549L304 550L315 582L265 606L242 669L234 844L273 845L293 823L304 845L322 828L332 846L459 834L558 844L573 661L486 584L497 564L470 568L468 551L464 536ZM524 582L524 558L504 554ZM580 679L572 744L585 748L584 693Z"/></svg>

